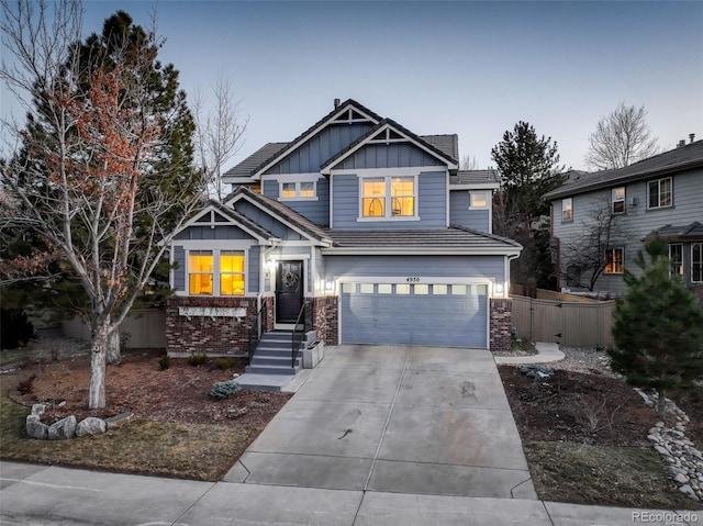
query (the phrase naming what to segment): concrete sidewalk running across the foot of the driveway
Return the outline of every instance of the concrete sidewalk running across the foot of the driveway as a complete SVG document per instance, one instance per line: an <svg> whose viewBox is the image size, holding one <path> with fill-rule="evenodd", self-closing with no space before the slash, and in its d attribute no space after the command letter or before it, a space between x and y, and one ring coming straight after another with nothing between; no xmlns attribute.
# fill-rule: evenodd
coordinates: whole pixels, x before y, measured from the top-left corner
<svg viewBox="0 0 703 526"><path fill-rule="evenodd" d="M3 526L632 526L702 518L703 512L197 482L0 461Z"/></svg>

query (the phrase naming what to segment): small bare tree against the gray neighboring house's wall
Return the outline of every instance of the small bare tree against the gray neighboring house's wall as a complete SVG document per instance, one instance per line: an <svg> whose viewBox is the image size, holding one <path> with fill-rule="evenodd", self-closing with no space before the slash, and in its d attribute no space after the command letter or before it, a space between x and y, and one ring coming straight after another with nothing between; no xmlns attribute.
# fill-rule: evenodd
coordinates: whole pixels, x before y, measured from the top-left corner
<svg viewBox="0 0 703 526"><path fill-rule="evenodd" d="M604 198L581 221L578 234L561 240L561 268L567 283L593 291L609 264L607 249L622 235L621 217Z"/></svg>

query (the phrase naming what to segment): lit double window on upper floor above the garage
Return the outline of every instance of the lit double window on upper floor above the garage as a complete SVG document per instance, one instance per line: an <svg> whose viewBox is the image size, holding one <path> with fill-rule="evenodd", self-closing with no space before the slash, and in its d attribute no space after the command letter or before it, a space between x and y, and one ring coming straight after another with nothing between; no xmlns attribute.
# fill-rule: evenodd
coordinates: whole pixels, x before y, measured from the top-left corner
<svg viewBox="0 0 703 526"><path fill-rule="evenodd" d="M415 177L368 177L361 179L361 217L415 217Z"/></svg>

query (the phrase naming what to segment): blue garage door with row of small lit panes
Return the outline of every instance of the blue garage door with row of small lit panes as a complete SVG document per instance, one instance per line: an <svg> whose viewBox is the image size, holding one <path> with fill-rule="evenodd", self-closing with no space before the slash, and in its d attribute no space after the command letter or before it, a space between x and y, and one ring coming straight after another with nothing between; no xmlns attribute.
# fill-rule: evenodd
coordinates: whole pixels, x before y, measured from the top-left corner
<svg viewBox="0 0 703 526"><path fill-rule="evenodd" d="M342 342L487 348L488 287L343 283Z"/></svg>

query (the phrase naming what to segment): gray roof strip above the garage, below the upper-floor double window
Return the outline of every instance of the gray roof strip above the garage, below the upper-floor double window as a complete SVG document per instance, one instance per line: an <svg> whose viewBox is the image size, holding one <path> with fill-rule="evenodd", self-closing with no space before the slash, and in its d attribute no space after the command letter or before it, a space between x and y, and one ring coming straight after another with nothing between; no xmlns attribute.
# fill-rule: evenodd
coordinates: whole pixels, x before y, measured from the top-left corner
<svg viewBox="0 0 703 526"><path fill-rule="evenodd" d="M333 248L325 249L330 253L378 255L431 250L446 254L504 254L518 253L522 248L511 239L457 226L436 230L328 230L327 236L334 239Z"/></svg>

